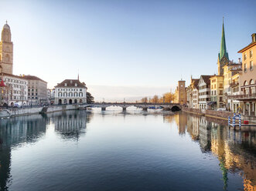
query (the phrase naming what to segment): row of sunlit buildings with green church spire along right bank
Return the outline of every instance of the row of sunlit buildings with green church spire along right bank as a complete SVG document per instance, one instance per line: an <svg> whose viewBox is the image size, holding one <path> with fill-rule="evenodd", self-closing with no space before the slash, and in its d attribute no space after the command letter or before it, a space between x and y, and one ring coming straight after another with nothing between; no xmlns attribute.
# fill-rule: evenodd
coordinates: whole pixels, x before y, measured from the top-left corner
<svg viewBox="0 0 256 191"><path fill-rule="evenodd" d="M256 116L256 33L251 35L251 43L239 50L242 59L230 61L226 48L224 23L218 54L217 75L191 76L190 84L180 80L174 102L192 109L213 109L242 112Z"/></svg>

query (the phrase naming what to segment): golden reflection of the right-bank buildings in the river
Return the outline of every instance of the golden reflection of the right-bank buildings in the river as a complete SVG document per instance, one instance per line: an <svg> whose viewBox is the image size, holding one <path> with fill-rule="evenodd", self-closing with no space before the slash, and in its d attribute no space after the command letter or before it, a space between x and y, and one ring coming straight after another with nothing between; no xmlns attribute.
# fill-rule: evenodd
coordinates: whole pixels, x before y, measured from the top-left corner
<svg viewBox="0 0 256 191"><path fill-rule="evenodd" d="M219 159L224 189L227 189L227 173L241 173L244 190L256 190L256 130L234 131L227 122L202 116L164 116L165 121L178 125L179 135L189 133L199 142L202 152L212 152ZM215 122L214 122L215 121Z"/></svg>

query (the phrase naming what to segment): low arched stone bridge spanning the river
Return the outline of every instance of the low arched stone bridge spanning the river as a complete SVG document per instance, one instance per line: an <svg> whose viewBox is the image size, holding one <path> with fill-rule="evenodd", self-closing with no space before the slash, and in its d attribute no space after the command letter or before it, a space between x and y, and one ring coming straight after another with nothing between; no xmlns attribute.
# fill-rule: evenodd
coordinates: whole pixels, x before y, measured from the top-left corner
<svg viewBox="0 0 256 191"><path fill-rule="evenodd" d="M147 111L148 109L155 107L155 108L161 108L164 110L171 110L172 112L176 112L181 110L182 108L179 103L131 103L131 102L122 102L122 103L95 102L92 104L85 103L80 106L84 108L97 107L97 108L101 108L102 111L105 111L106 108L109 106L119 106L123 109L123 111L126 111L126 109L130 106L142 108L143 111Z"/></svg>

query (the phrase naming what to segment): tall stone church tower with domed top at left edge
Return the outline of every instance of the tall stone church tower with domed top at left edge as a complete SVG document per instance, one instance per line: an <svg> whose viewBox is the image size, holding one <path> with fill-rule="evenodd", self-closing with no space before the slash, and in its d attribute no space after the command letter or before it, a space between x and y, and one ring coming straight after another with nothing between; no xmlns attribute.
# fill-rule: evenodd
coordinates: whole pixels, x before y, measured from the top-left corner
<svg viewBox="0 0 256 191"><path fill-rule="evenodd" d="M11 29L7 24L2 28L0 42L0 72L12 74L13 69L13 43L11 41Z"/></svg>

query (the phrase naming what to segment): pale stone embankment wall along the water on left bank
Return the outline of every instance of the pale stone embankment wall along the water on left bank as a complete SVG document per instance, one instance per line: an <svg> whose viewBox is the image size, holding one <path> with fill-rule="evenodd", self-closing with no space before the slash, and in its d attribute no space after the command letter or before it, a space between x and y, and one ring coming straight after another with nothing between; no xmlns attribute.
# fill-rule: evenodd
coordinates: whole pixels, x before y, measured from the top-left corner
<svg viewBox="0 0 256 191"><path fill-rule="evenodd" d="M63 106L44 106L44 107L32 107L32 108L15 108L15 109L1 109L0 118L12 117L12 116L24 116L38 113L48 112L60 112L66 110L79 109L78 105L63 105Z"/></svg>

